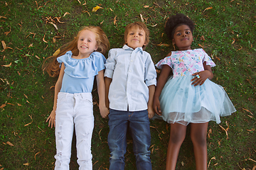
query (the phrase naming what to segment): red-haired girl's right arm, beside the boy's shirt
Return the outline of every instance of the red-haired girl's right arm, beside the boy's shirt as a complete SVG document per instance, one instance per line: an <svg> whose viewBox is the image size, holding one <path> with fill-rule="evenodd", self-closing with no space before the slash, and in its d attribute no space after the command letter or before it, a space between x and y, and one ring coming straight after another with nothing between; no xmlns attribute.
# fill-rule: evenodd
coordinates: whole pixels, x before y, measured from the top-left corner
<svg viewBox="0 0 256 170"><path fill-rule="evenodd" d="M100 108L100 115L102 118L106 118L107 115L110 113L108 108L106 107L105 102L105 82L104 82L104 71L103 69L98 72L96 79L97 79L97 91L99 95L99 108Z"/></svg>

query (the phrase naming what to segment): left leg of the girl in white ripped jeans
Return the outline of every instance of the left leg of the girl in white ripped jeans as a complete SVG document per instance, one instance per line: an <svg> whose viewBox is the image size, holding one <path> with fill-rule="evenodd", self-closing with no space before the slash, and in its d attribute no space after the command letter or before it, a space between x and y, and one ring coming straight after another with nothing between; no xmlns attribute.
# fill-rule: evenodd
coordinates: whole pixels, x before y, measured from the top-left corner
<svg viewBox="0 0 256 170"><path fill-rule="evenodd" d="M73 139L73 103L66 94L58 95L55 117L55 169L69 169L71 143Z"/></svg>

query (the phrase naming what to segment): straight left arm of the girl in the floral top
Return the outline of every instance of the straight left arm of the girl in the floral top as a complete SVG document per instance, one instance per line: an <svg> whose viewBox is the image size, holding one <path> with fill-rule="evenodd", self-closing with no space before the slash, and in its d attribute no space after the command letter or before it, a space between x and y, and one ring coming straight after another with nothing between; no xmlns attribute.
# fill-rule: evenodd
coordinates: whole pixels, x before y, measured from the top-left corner
<svg viewBox="0 0 256 170"><path fill-rule="evenodd" d="M156 91L154 93L153 108L156 114L158 115L161 115L159 96L161 94L162 89L164 88L164 84L166 84L166 81L169 77L170 72L171 72L171 67L169 67L169 65L164 64L156 83Z"/></svg>

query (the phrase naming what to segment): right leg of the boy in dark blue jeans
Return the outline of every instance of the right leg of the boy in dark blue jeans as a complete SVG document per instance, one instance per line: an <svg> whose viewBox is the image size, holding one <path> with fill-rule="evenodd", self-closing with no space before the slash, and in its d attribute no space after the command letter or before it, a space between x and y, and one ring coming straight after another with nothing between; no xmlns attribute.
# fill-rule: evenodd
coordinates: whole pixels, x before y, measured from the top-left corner
<svg viewBox="0 0 256 170"><path fill-rule="evenodd" d="M129 129L132 132L133 150L137 170L151 170L150 125L147 111L129 112Z"/></svg>

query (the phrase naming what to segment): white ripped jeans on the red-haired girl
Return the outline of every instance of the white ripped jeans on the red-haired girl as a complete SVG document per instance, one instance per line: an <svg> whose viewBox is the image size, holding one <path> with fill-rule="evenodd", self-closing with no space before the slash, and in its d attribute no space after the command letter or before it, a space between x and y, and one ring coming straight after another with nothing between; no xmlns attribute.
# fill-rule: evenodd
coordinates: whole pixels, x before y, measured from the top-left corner
<svg viewBox="0 0 256 170"><path fill-rule="evenodd" d="M58 94L55 117L55 169L69 169L75 125L79 169L92 170L91 140L94 127L92 94Z"/></svg>

